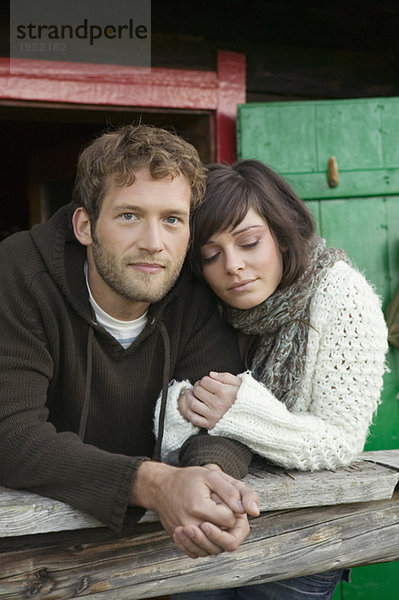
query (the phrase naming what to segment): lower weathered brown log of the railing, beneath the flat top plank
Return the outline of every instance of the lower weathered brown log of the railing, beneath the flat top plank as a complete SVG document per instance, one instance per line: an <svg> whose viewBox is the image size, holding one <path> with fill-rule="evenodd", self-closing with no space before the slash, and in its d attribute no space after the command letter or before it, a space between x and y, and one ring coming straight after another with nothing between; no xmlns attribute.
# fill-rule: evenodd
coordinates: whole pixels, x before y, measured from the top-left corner
<svg viewBox="0 0 399 600"><path fill-rule="evenodd" d="M391 500L269 512L232 554L193 561L163 531L0 553L0 599L134 600L239 587L399 558L399 495ZM46 536L48 537L48 536ZM11 540L12 543L12 540Z"/></svg>

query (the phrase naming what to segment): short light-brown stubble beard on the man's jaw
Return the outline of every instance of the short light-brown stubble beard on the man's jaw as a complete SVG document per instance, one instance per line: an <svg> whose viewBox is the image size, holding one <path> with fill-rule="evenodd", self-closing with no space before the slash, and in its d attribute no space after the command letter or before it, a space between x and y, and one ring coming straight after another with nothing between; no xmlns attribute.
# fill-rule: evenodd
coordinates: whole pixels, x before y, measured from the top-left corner
<svg viewBox="0 0 399 600"><path fill-rule="evenodd" d="M153 304L159 302L174 286L184 263L181 260L172 264L170 260L162 261L150 254L119 258L112 250L105 248L98 240L93 239L91 246L93 261L97 272L105 283L122 298L132 302ZM136 271L129 263L156 262L163 265L161 273L150 274Z"/></svg>

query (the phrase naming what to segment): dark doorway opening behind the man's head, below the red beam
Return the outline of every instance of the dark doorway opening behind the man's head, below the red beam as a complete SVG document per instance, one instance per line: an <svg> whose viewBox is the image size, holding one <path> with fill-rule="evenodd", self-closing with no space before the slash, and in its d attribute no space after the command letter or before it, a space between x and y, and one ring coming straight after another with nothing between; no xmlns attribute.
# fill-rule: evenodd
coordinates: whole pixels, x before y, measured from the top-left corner
<svg viewBox="0 0 399 600"><path fill-rule="evenodd" d="M213 112L38 102L0 104L0 239L45 221L69 202L81 148L126 123L176 131L215 160Z"/></svg>

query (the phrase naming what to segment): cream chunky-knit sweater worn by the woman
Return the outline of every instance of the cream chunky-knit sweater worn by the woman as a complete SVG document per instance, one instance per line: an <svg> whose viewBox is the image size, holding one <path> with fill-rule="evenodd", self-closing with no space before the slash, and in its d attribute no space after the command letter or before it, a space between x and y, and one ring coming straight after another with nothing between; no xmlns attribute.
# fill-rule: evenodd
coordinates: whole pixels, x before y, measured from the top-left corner
<svg viewBox="0 0 399 600"><path fill-rule="evenodd" d="M243 442L277 465L335 469L362 451L382 389L387 331L380 300L363 275L335 263L310 307L306 366L291 412L251 373L210 435ZM190 382L169 387L162 459L176 462L180 446L198 431L177 409ZM155 423L158 422L159 401ZM155 430L157 426L155 426Z"/></svg>

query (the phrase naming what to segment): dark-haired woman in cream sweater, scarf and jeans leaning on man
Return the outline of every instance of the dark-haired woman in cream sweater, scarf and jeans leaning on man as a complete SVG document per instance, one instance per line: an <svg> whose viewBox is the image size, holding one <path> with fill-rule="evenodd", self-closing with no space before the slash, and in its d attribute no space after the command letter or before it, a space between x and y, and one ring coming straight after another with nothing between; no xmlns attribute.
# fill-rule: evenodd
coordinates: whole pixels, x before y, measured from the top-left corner
<svg viewBox="0 0 399 600"><path fill-rule="evenodd" d="M348 465L378 406L387 349L380 300L363 275L326 248L304 203L255 160L209 169L192 258L238 330L248 370L171 385L164 458L202 427L287 469ZM174 598L325 599L341 576Z"/></svg>

